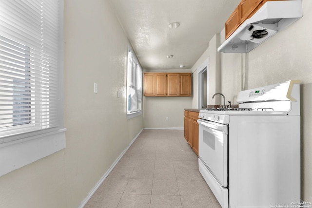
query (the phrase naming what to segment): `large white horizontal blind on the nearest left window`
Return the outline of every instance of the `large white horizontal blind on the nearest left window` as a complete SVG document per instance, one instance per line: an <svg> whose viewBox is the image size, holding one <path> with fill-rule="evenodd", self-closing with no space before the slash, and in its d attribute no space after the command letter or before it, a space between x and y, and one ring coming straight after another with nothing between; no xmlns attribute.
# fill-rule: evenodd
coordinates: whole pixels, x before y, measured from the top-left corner
<svg viewBox="0 0 312 208"><path fill-rule="evenodd" d="M58 127L59 0L0 0L0 139Z"/></svg>

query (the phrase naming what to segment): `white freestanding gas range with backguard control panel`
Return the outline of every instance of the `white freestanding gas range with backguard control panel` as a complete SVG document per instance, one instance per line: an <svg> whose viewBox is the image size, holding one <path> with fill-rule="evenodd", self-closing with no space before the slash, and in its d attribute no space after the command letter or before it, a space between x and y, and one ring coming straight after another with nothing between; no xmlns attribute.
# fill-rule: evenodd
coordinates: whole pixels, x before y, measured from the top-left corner
<svg viewBox="0 0 312 208"><path fill-rule="evenodd" d="M239 108L200 110L199 171L222 208L300 203L298 80L241 91Z"/></svg>

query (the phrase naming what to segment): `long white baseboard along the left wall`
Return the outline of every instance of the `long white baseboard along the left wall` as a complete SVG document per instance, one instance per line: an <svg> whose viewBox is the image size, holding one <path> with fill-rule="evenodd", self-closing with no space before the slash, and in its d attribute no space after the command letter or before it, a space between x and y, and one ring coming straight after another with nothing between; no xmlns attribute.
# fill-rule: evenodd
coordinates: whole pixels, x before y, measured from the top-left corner
<svg viewBox="0 0 312 208"><path fill-rule="evenodd" d="M130 148L130 146L134 143L134 141L136 141L138 135L140 135L140 133L143 131L143 129L138 132L138 134L136 135L136 137L130 142L130 144L126 147L126 149L124 151L121 152L121 154L119 155L119 157L115 160L115 162L113 163L113 165L105 172L105 174L101 177L101 179L98 181L98 183L96 184L96 186L91 189L91 191L89 192L89 194L87 195L87 197L81 202L81 204L79 205L78 208L83 208L87 202L90 200L90 198L92 197L92 195L98 190L98 188L101 186L101 184L104 182L104 180L107 178L107 176L109 175L109 173L111 173L111 171L115 168L115 166L117 165L117 163L119 162L119 160L121 159L121 157L126 153L126 151Z"/></svg>

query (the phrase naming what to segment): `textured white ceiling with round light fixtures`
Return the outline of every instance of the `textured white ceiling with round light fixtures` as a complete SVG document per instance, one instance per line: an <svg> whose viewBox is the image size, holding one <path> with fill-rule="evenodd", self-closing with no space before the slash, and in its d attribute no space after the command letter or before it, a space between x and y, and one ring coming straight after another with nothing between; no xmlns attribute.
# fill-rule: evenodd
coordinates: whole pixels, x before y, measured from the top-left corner
<svg viewBox="0 0 312 208"><path fill-rule="evenodd" d="M110 0L145 70L191 69L240 0ZM176 29L171 22L179 22ZM167 55L173 55L167 58Z"/></svg>

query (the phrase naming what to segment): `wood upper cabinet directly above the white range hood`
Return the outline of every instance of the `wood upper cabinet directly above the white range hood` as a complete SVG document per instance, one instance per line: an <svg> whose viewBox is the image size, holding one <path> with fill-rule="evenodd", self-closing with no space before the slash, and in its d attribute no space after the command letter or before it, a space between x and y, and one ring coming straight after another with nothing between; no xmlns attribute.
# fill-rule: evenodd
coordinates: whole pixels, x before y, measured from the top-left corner
<svg viewBox="0 0 312 208"><path fill-rule="evenodd" d="M246 19L251 18L254 13L267 1L276 0L241 0L230 18L225 22L225 38L229 36L243 23Z"/></svg>

